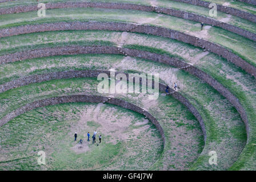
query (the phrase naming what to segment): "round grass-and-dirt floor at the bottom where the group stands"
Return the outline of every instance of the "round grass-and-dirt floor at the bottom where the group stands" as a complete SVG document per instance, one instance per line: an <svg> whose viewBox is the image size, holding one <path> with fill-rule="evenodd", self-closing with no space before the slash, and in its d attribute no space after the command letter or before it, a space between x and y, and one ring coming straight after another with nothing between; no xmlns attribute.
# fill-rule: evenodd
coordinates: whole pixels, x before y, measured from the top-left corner
<svg viewBox="0 0 256 182"><path fill-rule="evenodd" d="M75 132L83 144L74 141ZM0 143L0 170L146 170L163 150L159 131L143 115L101 103L31 110L1 127ZM46 165L38 165L39 151L45 152Z"/></svg>

